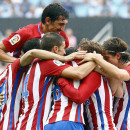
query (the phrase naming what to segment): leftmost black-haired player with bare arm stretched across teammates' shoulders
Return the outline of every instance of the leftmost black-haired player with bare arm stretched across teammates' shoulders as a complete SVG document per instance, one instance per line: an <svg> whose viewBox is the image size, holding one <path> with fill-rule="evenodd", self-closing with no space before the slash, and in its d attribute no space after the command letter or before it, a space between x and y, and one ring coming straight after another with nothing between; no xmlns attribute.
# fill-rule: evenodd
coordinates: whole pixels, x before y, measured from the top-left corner
<svg viewBox="0 0 130 130"><path fill-rule="evenodd" d="M37 49L41 49L40 38L32 38L26 41L23 46L25 54L20 59L16 59L12 64L8 65L0 75L0 129L14 129L16 127L16 122L21 113L22 81L28 68L26 65L29 65L34 58L68 61L72 60L76 55L73 54L64 57L49 51ZM82 55L83 53L85 52L81 52L80 54Z"/></svg>

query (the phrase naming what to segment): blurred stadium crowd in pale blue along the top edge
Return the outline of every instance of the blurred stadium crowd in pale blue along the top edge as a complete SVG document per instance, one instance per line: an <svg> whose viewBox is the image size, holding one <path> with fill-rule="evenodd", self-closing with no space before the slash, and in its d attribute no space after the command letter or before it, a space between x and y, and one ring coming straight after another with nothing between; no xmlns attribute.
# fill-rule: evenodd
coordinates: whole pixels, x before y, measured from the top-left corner
<svg viewBox="0 0 130 130"><path fill-rule="evenodd" d="M61 3L70 17L130 18L130 0L0 0L0 18L40 18L50 3Z"/></svg>

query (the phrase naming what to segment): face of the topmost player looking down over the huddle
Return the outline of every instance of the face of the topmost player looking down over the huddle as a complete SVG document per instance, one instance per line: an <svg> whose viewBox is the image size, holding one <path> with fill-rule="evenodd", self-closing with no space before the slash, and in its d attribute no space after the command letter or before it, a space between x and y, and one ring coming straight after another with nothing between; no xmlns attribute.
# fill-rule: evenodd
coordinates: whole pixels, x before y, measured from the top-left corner
<svg viewBox="0 0 130 130"><path fill-rule="evenodd" d="M65 29L65 25L68 23L68 20L64 19L63 16L60 16L58 20L54 22L49 22L48 32L60 33Z"/></svg>

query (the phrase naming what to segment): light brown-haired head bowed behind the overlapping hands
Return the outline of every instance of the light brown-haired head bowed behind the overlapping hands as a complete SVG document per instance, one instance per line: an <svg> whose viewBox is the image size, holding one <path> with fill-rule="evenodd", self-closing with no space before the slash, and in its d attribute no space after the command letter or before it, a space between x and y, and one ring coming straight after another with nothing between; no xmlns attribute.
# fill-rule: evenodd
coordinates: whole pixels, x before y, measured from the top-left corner
<svg viewBox="0 0 130 130"><path fill-rule="evenodd" d="M100 45L96 41L89 41L86 38L83 38L80 41L80 43L77 47L77 50L78 51L87 51L87 53L93 53L94 51L99 54L103 53L102 45Z"/></svg>

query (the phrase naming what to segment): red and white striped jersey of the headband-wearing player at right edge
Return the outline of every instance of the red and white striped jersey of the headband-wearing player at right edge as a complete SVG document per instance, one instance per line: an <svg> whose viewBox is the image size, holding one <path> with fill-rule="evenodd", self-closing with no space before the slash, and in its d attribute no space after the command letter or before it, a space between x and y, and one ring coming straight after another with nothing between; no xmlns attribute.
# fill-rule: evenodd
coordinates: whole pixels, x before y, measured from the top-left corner
<svg viewBox="0 0 130 130"><path fill-rule="evenodd" d="M130 74L130 65L125 70ZM114 121L118 130L130 130L130 81L123 82L123 89L123 97L114 101Z"/></svg>

